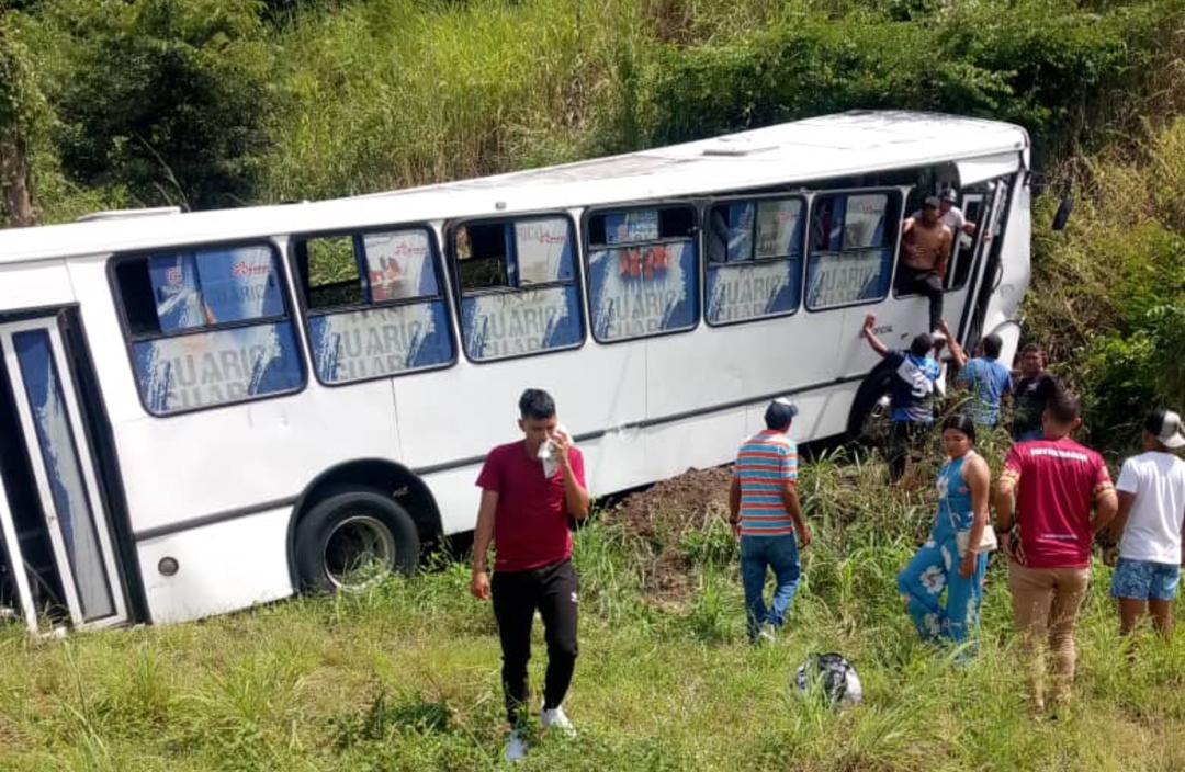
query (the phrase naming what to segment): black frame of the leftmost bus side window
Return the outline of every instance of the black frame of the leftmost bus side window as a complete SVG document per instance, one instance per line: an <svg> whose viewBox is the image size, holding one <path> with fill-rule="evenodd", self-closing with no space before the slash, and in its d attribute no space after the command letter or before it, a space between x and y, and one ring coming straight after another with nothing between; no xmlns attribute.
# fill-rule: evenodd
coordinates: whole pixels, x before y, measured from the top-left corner
<svg viewBox="0 0 1185 772"><path fill-rule="evenodd" d="M268 252L271 255L271 265L276 270L276 278L280 282L280 302L283 304L284 314L282 316L261 316L252 320L237 320L233 322L222 322L218 324L203 326L197 329L185 329L185 330L173 330L169 333L156 333L148 335L135 335L132 333L132 326L128 321L126 303L123 298L123 290L120 287L118 277L116 276L116 266L121 263L130 263L132 260L147 260L154 255L168 255L174 252L199 252L205 250L235 250L252 246L265 246ZM107 284L108 291L111 296L111 304L115 305L115 315L118 317L120 333L123 335L123 350L128 356L128 368L132 373L133 388L136 392L136 399L140 401L140 406L143 408L147 416L152 418L166 420L174 418L177 416L188 416L192 413L200 413L210 410L223 410L226 407L235 407L237 405L246 405L250 403L258 403L268 399L282 399L286 397L296 397L302 394L308 388L308 361L305 356L305 346L301 340L300 327L296 324L296 307L293 304L293 298L289 297L288 291L288 279L286 275L286 262L283 256L280 253L280 247L276 246L274 236L260 236L249 239L228 239L228 240L213 240L213 242L193 242L188 244L168 244L159 247L129 250L127 252L111 252L107 258ZM236 399L235 401L220 403L217 405L199 405L197 407L187 407L184 410L174 410L167 413L158 413L148 407L145 401L145 395L140 391L139 371L136 371L136 356L134 350L135 343L141 343L145 341L162 340L166 337L187 337L192 335L203 335L206 333L219 333L229 329L242 329L245 327L260 327L262 324L277 324L281 322L289 322L293 324L293 340L295 341L294 352L296 354L296 361L300 366L300 387L292 391L283 392L271 392L268 394L258 394L255 397L246 397L244 399ZM96 368L97 369L97 368Z"/></svg>

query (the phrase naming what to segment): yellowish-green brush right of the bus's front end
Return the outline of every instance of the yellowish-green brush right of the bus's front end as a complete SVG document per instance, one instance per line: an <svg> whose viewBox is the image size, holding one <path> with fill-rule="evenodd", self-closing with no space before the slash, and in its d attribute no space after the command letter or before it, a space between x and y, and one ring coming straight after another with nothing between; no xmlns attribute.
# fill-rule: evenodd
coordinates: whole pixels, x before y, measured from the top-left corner
<svg viewBox="0 0 1185 772"><path fill-rule="evenodd" d="M1077 197L1064 233L1046 230L1056 197L1038 200L1025 307L1026 334L1083 397L1091 440L1116 452L1152 407L1185 410L1185 120L1142 136L1058 172Z"/></svg>

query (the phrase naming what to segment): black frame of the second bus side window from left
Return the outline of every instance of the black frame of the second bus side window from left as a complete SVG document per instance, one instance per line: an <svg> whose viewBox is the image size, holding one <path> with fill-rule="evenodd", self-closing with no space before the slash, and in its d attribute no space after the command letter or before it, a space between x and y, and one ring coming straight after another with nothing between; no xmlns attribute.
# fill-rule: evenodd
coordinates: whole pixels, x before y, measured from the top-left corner
<svg viewBox="0 0 1185 772"><path fill-rule="evenodd" d="M434 250L434 257L440 258L433 260L433 271L434 275L436 276L436 289L438 290L436 295L423 295L416 298L399 298L395 301L380 301L378 303L365 302L365 303L351 303L347 305L332 305L324 309L322 308L313 309L308 307L309 288L303 285L302 275L299 270L300 264L299 264L297 245L318 238L341 238L348 236L354 247L354 263L358 265L359 279L364 283L366 290L365 291L366 297L370 297L371 295L370 278L367 277L366 266L363 265L361 263L364 257L361 250L365 250L365 242L363 242L363 246L360 250L359 239L365 239L366 236L371 236L374 233L392 233L396 231L417 231L417 230L422 230L428 233L428 246L429 249ZM308 256L306 253L306 260ZM447 316L446 321L448 322L448 336L449 336L449 342L453 347L453 356L450 356L447 362L441 362L440 365L431 365L429 367L417 367L416 369L409 369L402 373L367 375L366 378L357 378L354 380L340 381L337 384L321 380L321 377L316 373L316 367L312 367L310 369L313 371L313 378L315 378L316 382L320 384L321 386L325 386L326 388L341 388L344 386L353 386L356 384L367 384L370 381L376 381L376 380L405 378L408 375L415 375L417 373L431 373L441 369L448 369L456 365L457 347L460 346L460 341L457 337L456 328L453 323L454 309L451 298L449 297L448 283L444 281L446 277L444 255L440 250L440 243L436 238L436 229L431 227L431 225L429 225L428 223L414 221L414 223L396 224L396 225L366 225L356 229L334 229L331 231L300 231L297 233L290 233L288 236L288 260L290 263L289 270L292 271L293 276L293 287L296 290L295 291L296 305L301 313L302 330L305 333L306 339L308 340L308 353L310 359L314 356L314 353L313 353L313 332L309 326L309 322L313 320L314 316L357 314L360 311L371 311L383 308L395 308L398 305L418 305L423 303L435 303L436 301L444 301L444 313Z"/></svg>

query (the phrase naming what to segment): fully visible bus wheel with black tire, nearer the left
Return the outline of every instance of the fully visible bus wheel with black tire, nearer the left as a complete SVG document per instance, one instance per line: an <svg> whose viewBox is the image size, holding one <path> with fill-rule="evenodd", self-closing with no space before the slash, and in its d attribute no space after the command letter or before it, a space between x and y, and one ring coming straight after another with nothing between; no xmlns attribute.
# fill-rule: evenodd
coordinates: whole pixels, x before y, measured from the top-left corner
<svg viewBox="0 0 1185 772"><path fill-rule="evenodd" d="M390 496L353 489L318 501L296 523L295 567L309 592L363 590L419 562L416 522Z"/></svg>

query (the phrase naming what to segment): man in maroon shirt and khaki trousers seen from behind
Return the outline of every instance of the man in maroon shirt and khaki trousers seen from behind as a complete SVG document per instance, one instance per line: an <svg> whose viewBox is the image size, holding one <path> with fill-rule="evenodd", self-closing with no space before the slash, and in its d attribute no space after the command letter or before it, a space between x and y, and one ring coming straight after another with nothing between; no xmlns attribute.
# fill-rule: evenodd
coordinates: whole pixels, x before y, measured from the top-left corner
<svg viewBox="0 0 1185 772"><path fill-rule="evenodd" d="M1031 657L1030 688L1038 710L1045 709L1046 636L1053 652L1050 700L1070 696L1074 628L1090 579L1090 545L1119 509L1102 456L1070 439L1082 424L1078 401L1066 393L1053 397L1042 424L1043 439L1008 451L995 497L997 530L1012 558L1012 612ZM1013 545L1010 532L1018 512L1019 543Z"/></svg>

